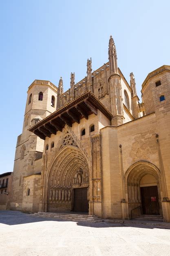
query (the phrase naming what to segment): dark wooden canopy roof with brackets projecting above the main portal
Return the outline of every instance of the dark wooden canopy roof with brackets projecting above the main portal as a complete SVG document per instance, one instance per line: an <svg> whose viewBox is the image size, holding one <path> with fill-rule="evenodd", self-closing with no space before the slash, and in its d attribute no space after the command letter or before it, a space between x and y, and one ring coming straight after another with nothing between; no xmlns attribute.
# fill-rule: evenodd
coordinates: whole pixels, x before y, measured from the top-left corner
<svg viewBox="0 0 170 256"><path fill-rule="evenodd" d="M109 120L112 119L111 112L104 107L97 97L92 92L86 92L62 108L57 109L38 124L31 126L28 130L34 132L41 139L45 139L51 137L51 134L56 134L57 131L62 132L66 124L72 127L75 122L79 124L80 119L88 119L88 115L97 115L97 109Z"/></svg>

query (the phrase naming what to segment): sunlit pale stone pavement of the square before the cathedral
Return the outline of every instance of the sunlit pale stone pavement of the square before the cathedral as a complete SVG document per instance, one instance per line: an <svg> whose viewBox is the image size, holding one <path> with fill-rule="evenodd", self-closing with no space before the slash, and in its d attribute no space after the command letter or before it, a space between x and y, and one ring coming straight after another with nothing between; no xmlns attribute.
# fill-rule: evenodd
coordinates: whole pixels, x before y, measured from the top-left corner
<svg viewBox="0 0 170 256"><path fill-rule="evenodd" d="M170 255L170 229L0 211L0 255Z"/></svg>

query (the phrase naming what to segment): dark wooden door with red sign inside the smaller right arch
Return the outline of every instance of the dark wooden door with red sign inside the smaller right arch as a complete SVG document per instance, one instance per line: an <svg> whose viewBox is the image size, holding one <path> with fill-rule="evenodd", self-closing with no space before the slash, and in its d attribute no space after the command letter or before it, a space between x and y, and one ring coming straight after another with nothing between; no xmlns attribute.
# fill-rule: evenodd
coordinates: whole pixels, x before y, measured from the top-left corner
<svg viewBox="0 0 170 256"><path fill-rule="evenodd" d="M141 187L143 214L159 214L159 198L157 186Z"/></svg>

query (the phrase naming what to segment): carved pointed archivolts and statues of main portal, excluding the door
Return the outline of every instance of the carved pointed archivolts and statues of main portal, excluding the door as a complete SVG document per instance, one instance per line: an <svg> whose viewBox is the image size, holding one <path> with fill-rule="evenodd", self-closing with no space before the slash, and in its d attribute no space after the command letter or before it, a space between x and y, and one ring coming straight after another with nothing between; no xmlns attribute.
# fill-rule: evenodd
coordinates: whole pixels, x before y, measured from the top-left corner
<svg viewBox="0 0 170 256"><path fill-rule="evenodd" d="M68 135L66 135L67 137ZM65 138L65 137L64 137ZM70 143L70 139L63 140ZM68 144L71 145L71 144ZM62 147L63 144L62 144ZM81 186L89 181L88 163L77 148L66 147L55 159L49 175L49 202L71 202L72 186Z"/></svg>

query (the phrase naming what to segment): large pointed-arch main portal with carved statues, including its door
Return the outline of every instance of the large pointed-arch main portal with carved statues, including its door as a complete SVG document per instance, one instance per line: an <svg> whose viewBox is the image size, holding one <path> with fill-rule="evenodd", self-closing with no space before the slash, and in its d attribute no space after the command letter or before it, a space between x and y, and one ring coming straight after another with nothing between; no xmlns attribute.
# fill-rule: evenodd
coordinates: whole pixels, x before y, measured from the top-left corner
<svg viewBox="0 0 170 256"><path fill-rule="evenodd" d="M86 157L75 146L60 150L51 167L47 211L88 212L89 169Z"/></svg>

